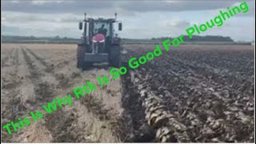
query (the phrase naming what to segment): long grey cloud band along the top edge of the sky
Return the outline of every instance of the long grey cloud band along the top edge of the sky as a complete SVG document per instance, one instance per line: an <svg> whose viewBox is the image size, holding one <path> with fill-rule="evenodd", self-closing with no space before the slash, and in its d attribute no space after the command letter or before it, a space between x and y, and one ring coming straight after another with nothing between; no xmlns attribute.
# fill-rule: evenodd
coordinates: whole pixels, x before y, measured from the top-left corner
<svg viewBox="0 0 256 144"><path fill-rule="evenodd" d="M2 10L33 13L104 13L109 10L121 10L124 14L147 11L186 11L215 10L232 6L241 1L74 1L42 2L34 5L32 1L18 3L3 1ZM250 2L254 9L254 1Z"/></svg>

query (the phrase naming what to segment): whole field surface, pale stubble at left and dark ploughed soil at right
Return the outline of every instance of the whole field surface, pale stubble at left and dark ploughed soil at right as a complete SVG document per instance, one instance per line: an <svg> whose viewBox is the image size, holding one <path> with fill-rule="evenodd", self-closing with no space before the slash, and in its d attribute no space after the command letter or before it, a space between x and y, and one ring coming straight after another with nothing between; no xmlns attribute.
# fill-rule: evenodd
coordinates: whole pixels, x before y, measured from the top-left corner
<svg viewBox="0 0 256 144"><path fill-rule="evenodd" d="M123 66L154 50L125 45ZM2 44L1 123L43 118L2 142L254 142L254 47L184 45L84 98L46 114L42 105L98 84L109 66L82 71L76 45Z"/></svg>

